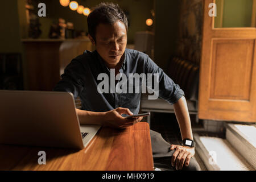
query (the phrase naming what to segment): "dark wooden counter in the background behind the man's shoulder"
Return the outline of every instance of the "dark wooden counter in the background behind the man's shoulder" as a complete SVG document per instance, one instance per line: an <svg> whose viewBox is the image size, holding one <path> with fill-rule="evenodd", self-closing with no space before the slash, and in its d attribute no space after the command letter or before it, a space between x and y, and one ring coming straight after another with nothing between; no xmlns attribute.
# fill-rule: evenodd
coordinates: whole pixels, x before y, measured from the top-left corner
<svg viewBox="0 0 256 182"><path fill-rule="evenodd" d="M93 51L89 39L22 39L22 43L28 90L52 90L73 58Z"/></svg>

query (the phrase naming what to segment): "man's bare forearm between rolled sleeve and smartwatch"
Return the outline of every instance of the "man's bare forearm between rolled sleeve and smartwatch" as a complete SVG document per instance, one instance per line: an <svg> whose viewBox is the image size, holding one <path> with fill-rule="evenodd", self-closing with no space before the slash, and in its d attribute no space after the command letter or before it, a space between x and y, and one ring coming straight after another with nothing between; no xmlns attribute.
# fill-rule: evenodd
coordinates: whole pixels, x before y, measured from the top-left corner
<svg viewBox="0 0 256 182"><path fill-rule="evenodd" d="M184 138L193 139L187 101L184 96L181 97L179 101L177 101L174 104L174 111L177 118L177 122L179 123L182 139Z"/></svg>

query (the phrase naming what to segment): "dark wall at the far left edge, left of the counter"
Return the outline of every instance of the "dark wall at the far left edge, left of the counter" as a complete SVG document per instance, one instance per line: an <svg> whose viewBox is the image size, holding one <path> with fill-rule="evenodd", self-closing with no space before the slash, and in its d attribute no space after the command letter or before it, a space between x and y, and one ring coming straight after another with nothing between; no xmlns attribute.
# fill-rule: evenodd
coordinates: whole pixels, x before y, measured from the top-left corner
<svg viewBox="0 0 256 182"><path fill-rule="evenodd" d="M25 4L25 0L10 0L1 1L0 6L0 53L14 53L20 57L24 87L27 76L26 61L23 61L24 49L20 40L27 35Z"/></svg>

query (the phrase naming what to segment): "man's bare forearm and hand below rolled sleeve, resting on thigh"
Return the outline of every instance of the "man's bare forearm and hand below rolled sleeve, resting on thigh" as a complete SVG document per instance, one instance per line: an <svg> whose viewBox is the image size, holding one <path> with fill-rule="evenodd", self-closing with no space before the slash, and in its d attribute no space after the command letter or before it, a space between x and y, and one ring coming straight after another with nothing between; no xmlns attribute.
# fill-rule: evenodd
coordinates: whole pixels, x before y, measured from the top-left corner
<svg viewBox="0 0 256 182"><path fill-rule="evenodd" d="M191 121L188 113L187 101L185 97L181 97L174 104L174 111L179 123L181 138L188 138L193 140L193 134L191 129ZM184 164L188 166L190 159L195 155L195 147L186 147L172 144L171 150L175 152L172 155L171 164L176 167L176 169L182 169Z"/></svg>

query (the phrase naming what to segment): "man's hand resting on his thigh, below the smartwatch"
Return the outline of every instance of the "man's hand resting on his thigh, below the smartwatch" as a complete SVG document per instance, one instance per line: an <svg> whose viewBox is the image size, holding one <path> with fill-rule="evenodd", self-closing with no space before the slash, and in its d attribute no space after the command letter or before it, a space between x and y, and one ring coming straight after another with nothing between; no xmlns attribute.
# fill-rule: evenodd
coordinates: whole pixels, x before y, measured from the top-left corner
<svg viewBox="0 0 256 182"><path fill-rule="evenodd" d="M175 166L176 170L181 170L184 164L185 166L188 166L190 159L195 155L195 147L172 144L170 149L175 149L175 152L172 155L171 164L172 167Z"/></svg>

